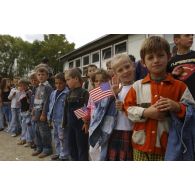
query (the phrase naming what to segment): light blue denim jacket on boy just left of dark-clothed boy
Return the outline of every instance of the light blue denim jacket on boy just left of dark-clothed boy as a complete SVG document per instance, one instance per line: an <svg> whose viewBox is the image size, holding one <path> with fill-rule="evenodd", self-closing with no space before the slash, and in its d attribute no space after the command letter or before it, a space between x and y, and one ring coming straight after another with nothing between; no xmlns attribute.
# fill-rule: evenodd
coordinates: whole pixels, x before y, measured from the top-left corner
<svg viewBox="0 0 195 195"><path fill-rule="evenodd" d="M56 98L57 90L53 91L50 95L49 112L47 114L48 121L62 122L64 115L65 98L68 94L68 88L65 88Z"/></svg>

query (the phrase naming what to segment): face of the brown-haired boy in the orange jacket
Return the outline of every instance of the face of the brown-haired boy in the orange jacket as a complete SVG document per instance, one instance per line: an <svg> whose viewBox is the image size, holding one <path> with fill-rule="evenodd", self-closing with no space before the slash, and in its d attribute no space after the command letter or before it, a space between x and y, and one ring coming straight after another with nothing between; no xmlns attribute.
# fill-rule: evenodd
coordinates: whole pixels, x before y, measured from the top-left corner
<svg viewBox="0 0 195 195"><path fill-rule="evenodd" d="M164 77L170 55L162 50L157 53L146 54L143 63L154 78Z"/></svg>

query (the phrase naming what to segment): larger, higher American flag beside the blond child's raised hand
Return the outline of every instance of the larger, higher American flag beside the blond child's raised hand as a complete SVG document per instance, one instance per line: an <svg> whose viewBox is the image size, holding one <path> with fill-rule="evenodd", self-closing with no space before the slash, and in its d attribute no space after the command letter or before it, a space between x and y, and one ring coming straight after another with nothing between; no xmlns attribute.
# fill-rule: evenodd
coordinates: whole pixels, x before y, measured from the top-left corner
<svg viewBox="0 0 195 195"><path fill-rule="evenodd" d="M92 89L89 94L94 102L114 95L109 82L102 83L99 87Z"/></svg>

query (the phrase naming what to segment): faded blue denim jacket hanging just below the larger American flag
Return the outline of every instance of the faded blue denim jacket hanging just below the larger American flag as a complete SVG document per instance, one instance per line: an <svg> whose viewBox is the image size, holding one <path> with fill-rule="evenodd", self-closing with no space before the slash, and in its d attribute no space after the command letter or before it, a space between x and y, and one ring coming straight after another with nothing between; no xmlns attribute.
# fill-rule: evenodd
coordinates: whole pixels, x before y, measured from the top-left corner
<svg viewBox="0 0 195 195"><path fill-rule="evenodd" d="M92 147L105 144L115 126L117 110L113 97L102 99L96 108L89 126L89 143Z"/></svg>

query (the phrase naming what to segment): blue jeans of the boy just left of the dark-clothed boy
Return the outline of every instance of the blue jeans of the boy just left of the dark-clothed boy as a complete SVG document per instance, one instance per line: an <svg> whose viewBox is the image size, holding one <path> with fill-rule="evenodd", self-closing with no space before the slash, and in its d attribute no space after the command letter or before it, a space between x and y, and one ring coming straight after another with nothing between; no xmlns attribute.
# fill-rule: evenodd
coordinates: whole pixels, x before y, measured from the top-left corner
<svg viewBox="0 0 195 195"><path fill-rule="evenodd" d="M68 158L70 154L68 147L68 130L61 127L61 122L53 122L53 127L56 153L59 155L60 159Z"/></svg>

